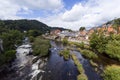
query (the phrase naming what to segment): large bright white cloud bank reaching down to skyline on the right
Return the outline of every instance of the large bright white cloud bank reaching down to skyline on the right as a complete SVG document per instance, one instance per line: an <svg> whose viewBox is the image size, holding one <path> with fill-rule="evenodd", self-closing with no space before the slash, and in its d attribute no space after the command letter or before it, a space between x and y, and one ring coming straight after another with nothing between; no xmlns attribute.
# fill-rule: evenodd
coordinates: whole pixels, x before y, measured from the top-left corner
<svg viewBox="0 0 120 80"><path fill-rule="evenodd" d="M51 26L63 26L73 30L79 27L95 27L109 20L120 17L120 0L88 0L77 3L70 10L61 12L50 20L44 20ZM43 20L42 20L43 21Z"/></svg>

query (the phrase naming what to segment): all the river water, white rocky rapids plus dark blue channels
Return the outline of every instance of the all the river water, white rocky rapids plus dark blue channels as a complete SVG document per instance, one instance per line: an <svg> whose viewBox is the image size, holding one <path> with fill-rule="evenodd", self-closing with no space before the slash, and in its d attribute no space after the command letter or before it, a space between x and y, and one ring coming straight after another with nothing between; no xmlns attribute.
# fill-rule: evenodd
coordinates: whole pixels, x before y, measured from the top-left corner
<svg viewBox="0 0 120 80"><path fill-rule="evenodd" d="M19 49L11 71L0 80L77 80L79 74L72 59L64 60L59 51L65 46L60 42L51 41L50 55L48 59L37 58L24 53L26 49ZM91 67L89 61L84 59L77 51L71 51L80 60L88 80L102 80Z"/></svg>

